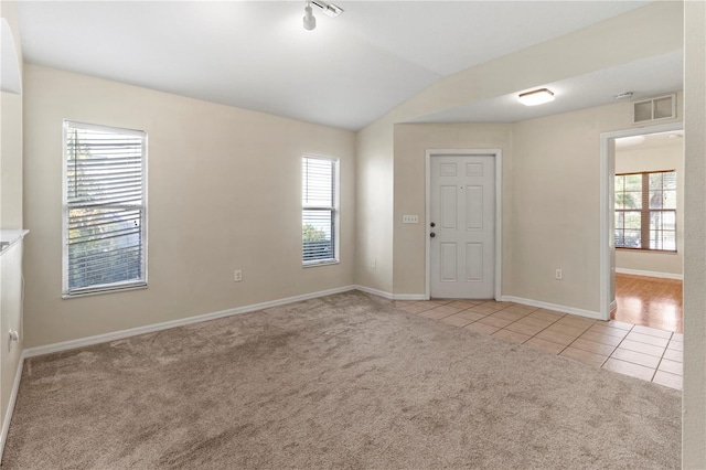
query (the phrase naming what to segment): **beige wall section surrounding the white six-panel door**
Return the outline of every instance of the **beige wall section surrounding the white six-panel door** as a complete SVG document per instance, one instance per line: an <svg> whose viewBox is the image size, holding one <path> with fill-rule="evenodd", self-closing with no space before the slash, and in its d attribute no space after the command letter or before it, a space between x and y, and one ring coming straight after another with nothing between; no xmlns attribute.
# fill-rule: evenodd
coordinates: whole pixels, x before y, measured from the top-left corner
<svg viewBox="0 0 706 470"><path fill-rule="evenodd" d="M511 290L512 125L399 124L395 126L394 292L424 295L426 281L426 152L432 149L500 149L503 163L503 292ZM403 224L403 214L419 215Z"/></svg>

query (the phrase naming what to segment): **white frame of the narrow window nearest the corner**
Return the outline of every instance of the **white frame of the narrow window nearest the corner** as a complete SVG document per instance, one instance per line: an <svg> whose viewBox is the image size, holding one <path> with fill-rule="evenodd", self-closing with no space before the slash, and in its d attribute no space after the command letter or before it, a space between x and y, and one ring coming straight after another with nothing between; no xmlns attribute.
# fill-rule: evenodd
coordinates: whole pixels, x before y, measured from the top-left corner
<svg viewBox="0 0 706 470"><path fill-rule="evenodd" d="M327 156L318 156L318 154L312 154L312 153L304 153L301 157L301 161L300 161L300 178L303 180L303 171L304 171L304 161L306 160L323 160L323 161L329 161L333 163L333 191L332 191L332 195L333 195L333 204L331 206L323 206L323 205L315 205L315 204L310 204L307 205L303 203L303 184L301 186L301 196L300 196L300 201L301 201L301 213L300 213L300 234L301 234L301 254L300 254L300 259L301 259L301 265L303 268L311 268L311 267L317 267L317 266L328 266L328 265L338 265L341 263L341 256L340 256L340 234L341 234L341 210L340 210L340 202L341 202L341 161L338 157L327 157ZM331 211L332 212L332 225L333 225L333 229L332 229L332 234L331 234L331 239L333 242L333 257L331 258L325 258L325 259L314 259L314 260L304 260L303 256L303 214L306 210L321 210L321 211Z"/></svg>

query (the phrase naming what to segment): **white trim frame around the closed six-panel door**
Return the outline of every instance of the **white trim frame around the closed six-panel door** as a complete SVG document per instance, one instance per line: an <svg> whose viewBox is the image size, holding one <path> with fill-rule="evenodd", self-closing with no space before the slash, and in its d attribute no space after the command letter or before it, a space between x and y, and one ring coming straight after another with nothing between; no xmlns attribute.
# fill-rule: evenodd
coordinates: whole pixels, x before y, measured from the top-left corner
<svg viewBox="0 0 706 470"><path fill-rule="evenodd" d="M495 279L494 279L494 296L495 300L502 299L502 259L503 259L503 245L502 245L502 225L503 225L503 152L501 149L429 149L427 150L425 164L426 164L426 188L425 188L425 250L426 250L426 269L425 269L425 299L431 298L430 287L430 271L431 271L431 227L429 227L429 221L431 220L431 159L434 157L473 157L473 156L491 156L495 160Z"/></svg>

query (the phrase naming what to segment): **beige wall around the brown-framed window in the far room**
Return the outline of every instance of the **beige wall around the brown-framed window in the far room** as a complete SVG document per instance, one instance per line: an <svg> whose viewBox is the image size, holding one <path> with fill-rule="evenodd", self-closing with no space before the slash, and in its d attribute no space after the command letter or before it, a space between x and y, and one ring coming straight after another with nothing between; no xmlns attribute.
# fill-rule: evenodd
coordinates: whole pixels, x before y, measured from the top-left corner
<svg viewBox="0 0 706 470"><path fill-rule="evenodd" d="M681 276L684 260L684 140L616 149L616 173L676 170L676 253L616 250L616 268Z"/></svg>

